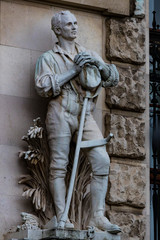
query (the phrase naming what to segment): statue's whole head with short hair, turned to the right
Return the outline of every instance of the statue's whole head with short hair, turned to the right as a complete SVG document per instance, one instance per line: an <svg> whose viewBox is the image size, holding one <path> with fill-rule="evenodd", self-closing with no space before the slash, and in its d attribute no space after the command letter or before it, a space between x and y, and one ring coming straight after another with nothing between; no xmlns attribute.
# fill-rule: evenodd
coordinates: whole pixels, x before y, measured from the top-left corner
<svg viewBox="0 0 160 240"><path fill-rule="evenodd" d="M70 11L56 13L51 19L51 28L57 37L62 36L67 40L77 37L77 19Z"/></svg>

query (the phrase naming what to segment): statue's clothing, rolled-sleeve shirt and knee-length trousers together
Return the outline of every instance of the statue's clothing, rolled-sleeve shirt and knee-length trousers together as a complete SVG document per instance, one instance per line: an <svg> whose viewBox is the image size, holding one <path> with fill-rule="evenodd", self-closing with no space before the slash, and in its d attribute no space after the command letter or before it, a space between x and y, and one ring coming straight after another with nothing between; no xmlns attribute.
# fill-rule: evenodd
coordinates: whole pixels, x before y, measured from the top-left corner
<svg viewBox="0 0 160 240"><path fill-rule="evenodd" d="M85 48L76 44L77 53L86 52ZM95 53L87 51L99 61L103 60ZM59 75L71 69L74 59L65 52L58 44L38 59L35 73L36 90L43 97L51 97L46 117L46 127L50 146L50 181L55 178L64 178L67 165L71 139L76 139L79 128L79 115L83 106L85 89L81 87L78 77L59 86ZM103 62L104 64L104 62ZM114 65L110 68L109 76L103 79L99 87L91 92L88 101L83 140L102 139L92 116L95 101L101 86L111 87L118 82L118 72ZM109 157L105 146L87 149L86 155L91 163L93 175L108 175Z"/></svg>

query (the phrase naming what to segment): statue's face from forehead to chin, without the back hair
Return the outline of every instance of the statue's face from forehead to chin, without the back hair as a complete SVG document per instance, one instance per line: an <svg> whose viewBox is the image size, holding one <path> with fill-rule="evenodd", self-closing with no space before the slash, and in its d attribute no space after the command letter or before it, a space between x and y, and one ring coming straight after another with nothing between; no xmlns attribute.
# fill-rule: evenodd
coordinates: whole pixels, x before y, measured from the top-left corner
<svg viewBox="0 0 160 240"><path fill-rule="evenodd" d="M77 37L77 19L73 14L63 15L61 18L60 34L64 39L73 40Z"/></svg>

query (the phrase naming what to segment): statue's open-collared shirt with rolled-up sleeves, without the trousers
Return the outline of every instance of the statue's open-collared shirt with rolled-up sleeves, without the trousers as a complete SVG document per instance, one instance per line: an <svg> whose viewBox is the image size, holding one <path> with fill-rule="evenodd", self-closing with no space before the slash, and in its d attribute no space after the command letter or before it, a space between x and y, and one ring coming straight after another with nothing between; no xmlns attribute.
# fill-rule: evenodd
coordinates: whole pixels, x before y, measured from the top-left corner
<svg viewBox="0 0 160 240"><path fill-rule="evenodd" d="M101 57L93 52L86 51L86 49L79 44L76 43L77 53L87 52L91 56L96 57L100 62L104 61ZM62 88L59 87L59 76L60 74L66 72L71 69L73 66L73 58L72 56L63 50L58 43L54 45L53 49L42 54L41 57L37 61L36 71L35 71L35 87L38 94L42 97L55 97L60 94L63 89L71 89L77 95L83 95L84 91L82 90L80 84L78 84L78 77L70 82L64 84ZM102 86L103 87L112 87L117 85L119 80L119 75L116 70L115 65L107 64L110 67L110 75L107 79L102 78Z"/></svg>

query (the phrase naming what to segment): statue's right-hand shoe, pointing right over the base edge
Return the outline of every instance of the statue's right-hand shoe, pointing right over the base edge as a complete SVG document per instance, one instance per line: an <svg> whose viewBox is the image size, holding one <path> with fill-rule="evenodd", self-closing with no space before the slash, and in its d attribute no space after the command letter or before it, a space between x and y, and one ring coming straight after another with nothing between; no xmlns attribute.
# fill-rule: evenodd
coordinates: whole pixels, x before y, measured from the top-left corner
<svg viewBox="0 0 160 240"><path fill-rule="evenodd" d="M93 226L102 231L107 231L113 234L121 232L121 228L118 225L110 223L110 221L104 216L92 218L89 222L89 226Z"/></svg>

